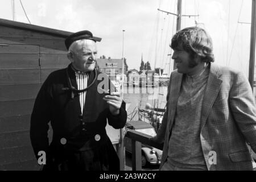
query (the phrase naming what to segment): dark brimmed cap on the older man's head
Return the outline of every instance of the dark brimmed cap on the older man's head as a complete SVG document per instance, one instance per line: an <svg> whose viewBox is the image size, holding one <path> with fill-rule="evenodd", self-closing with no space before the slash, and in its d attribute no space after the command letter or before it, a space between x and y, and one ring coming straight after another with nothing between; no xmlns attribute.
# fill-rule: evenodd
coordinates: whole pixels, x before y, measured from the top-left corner
<svg viewBox="0 0 256 182"><path fill-rule="evenodd" d="M80 32L71 34L65 39L65 45L66 45L67 49L69 48L69 46L71 46L71 44L73 42L75 42L76 40L81 40L81 39L90 39L90 40L93 40L94 42L96 42L96 38L93 37L92 32L90 32L88 30L84 30L84 31L80 31Z"/></svg>

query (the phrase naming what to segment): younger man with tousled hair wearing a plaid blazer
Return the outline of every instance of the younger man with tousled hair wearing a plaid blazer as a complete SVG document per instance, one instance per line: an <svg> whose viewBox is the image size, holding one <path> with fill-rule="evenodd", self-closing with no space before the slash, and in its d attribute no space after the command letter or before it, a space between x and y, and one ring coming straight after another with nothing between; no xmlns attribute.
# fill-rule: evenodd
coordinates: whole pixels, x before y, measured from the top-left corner
<svg viewBox="0 0 256 182"><path fill-rule="evenodd" d="M164 143L160 170L252 170L256 107L246 76L213 64L210 36L189 27L172 38L177 69L152 140Z"/></svg>

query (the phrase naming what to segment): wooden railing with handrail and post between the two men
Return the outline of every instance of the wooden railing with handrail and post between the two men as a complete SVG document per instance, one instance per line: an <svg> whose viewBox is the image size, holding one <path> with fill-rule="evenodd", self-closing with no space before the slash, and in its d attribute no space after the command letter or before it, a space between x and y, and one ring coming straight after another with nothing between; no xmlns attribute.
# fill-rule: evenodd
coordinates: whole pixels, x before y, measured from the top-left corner
<svg viewBox="0 0 256 182"><path fill-rule="evenodd" d="M163 150L163 144L156 143L150 135L138 131L128 130L125 137L131 139L131 163L133 171L141 171L141 143Z"/></svg>

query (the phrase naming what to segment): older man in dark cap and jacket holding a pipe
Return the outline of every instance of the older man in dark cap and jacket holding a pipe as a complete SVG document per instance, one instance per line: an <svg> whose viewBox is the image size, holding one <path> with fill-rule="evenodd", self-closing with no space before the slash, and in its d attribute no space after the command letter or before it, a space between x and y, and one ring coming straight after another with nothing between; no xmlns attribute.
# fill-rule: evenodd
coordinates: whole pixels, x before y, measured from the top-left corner
<svg viewBox="0 0 256 182"><path fill-rule="evenodd" d="M98 92L100 72L91 32L76 32L65 45L71 64L48 76L32 111L30 138L36 158L45 152L44 170L119 170L105 126L107 119L115 129L125 126L125 103L119 92ZM51 144L47 135L50 121Z"/></svg>

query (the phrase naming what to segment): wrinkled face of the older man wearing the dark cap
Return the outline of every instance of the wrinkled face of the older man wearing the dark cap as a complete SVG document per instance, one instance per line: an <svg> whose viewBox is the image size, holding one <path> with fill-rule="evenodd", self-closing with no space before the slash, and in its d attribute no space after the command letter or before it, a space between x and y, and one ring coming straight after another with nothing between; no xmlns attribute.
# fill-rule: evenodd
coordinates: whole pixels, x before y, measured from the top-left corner
<svg viewBox="0 0 256 182"><path fill-rule="evenodd" d="M73 50L73 67L82 72L93 71L97 59L96 42L83 40L82 44L77 43Z"/></svg>

